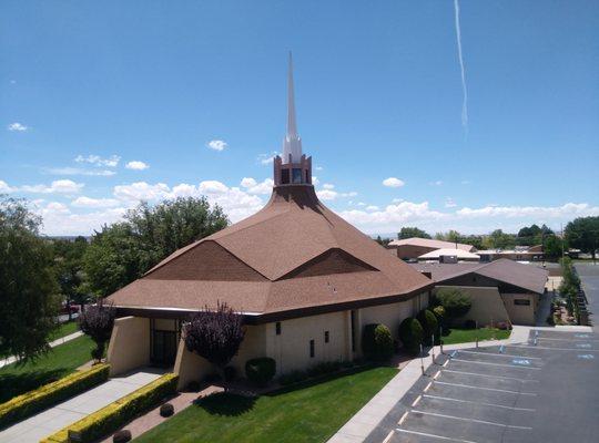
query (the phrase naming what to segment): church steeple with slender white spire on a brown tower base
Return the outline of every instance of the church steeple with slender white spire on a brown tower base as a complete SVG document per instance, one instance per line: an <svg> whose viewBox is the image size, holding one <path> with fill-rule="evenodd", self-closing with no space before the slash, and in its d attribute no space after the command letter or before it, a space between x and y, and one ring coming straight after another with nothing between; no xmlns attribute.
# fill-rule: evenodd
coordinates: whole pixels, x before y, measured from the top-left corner
<svg viewBox="0 0 599 443"><path fill-rule="evenodd" d="M295 120L293 59L290 51L287 72L287 133L283 140L283 157L274 159L274 182L280 185L312 185L312 157L302 154L302 138Z"/></svg>

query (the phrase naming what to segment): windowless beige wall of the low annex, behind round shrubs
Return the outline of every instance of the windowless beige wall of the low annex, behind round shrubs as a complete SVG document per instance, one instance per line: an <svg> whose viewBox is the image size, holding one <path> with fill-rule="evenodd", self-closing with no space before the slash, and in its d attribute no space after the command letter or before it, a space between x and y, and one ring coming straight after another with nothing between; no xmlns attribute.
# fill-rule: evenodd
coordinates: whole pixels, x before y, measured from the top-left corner
<svg viewBox="0 0 599 443"><path fill-rule="evenodd" d="M455 289L456 287L437 286L435 290L441 288ZM479 327L490 326L491 322L510 321L510 316L496 287L460 286L459 289L470 296L473 307L463 319L456 320L458 324L465 320L475 320Z"/></svg>

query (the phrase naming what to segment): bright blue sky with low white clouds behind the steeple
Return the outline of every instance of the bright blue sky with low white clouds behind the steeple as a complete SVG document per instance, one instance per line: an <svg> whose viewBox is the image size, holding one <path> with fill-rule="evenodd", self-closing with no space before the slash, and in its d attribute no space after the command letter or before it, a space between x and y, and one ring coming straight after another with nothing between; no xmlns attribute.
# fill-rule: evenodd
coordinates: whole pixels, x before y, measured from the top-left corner
<svg viewBox="0 0 599 443"><path fill-rule="evenodd" d="M459 19L467 125L451 0L3 1L0 192L48 234L176 195L238 220L270 194L293 50L321 198L361 229L599 215L599 2Z"/></svg>

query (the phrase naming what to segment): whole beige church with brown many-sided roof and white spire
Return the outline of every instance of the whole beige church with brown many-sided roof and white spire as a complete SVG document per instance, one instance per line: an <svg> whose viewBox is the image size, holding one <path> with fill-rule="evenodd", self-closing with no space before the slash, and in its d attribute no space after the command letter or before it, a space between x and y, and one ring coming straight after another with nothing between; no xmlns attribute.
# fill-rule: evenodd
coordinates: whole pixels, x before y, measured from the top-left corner
<svg viewBox="0 0 599 443"><path fill-rule="evenodd" d="M318 200L295 125L291 60L288 83L287 135L270 202L109 297L124 316L109 346L113 373L174 364L184 385L212 372L185 349L181 323L217 302L247 328L232 364L243 372L247 359L271 357L277 373L359 357L363 326L382 322L397 337L402 320L428 305L428 278Z"/></svg>

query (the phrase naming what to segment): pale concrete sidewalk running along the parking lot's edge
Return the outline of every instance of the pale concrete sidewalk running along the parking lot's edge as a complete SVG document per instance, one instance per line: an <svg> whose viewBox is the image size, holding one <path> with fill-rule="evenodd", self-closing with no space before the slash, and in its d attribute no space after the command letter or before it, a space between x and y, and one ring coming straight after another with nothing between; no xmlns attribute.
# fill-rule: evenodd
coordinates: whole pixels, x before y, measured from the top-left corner
<svg viewBox="0 0 599 443"><path fill-rule="evenodd" d="M515 326L511 334L506 340L489 340L479 342L479 347L491 347L497 344L524 343L528 340L528 334L536 327ZM456 349L473 348L476 343L459 343L444 346L444 352ZM433 353L439 356L440 348L434 347L423 359L425 370L433 364ZM392 381L389 381L373 399L366 403L335 435L328 440L328 443L357 443L363 442L366 436L374 431L378 423L387 413L402 400L404 394L409 391L412 385L423 374L420 369L420 359L413 359Z"/></svg>

